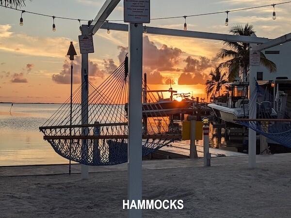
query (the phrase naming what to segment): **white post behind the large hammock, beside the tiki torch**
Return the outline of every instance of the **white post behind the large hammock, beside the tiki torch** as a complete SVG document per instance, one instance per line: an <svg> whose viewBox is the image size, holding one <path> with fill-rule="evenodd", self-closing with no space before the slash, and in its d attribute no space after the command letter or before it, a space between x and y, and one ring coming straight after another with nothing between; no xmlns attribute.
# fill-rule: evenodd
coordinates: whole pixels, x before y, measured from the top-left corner
<svg viewBox="0 0 291 218"><path fill-rule="evenodd" d="M88 34L88 26L82 25L82 35ZM81 124L88 124L88 53L82 54L82 69L81 69ZM88 127L82 128L82 135L88 135ZM82 158L88 158L88 140L82 140ZM87 165L81 164L81 179L88 179L89 168Z"/></svg>

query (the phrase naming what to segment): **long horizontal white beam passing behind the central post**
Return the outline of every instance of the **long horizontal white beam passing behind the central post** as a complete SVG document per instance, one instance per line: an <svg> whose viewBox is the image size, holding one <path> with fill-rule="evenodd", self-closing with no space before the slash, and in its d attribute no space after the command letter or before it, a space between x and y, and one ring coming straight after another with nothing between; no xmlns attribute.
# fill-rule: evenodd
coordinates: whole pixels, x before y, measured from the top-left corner
<svg viewBox="0 0 291 218"><path fill-rule="evenodd" d="M127 24L119 23L104 23L100 29L110 29L115 31L128 31ZM198 38L198 39L212 39L212 40L222 40L229 42L243 42L243 43L265 43L268 42L268 38L251 37L243 35L229 35L220 34L212 32L198 32L198 31L183 31L183 30L173 30L158 27L146 27L147 34L157 34L157 35L168 35L168 36L179 36L188 38Z"/></svg>

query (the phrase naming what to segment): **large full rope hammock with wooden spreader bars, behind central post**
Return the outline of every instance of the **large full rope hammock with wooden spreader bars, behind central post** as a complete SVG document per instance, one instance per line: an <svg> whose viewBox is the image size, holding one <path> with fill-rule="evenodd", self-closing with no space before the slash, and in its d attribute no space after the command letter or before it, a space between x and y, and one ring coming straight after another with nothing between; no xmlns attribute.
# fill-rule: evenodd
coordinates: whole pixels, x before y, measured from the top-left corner
<svg viewBox="0 0 291 218"><path fill-rule="evenodd" d="M82 86L83 85L83 86ZM89 81L39 127L56 153L85 165L115 165L128 161L128 59L98 87ZM143 87L143 90L149 90ZM83 98L81 97L83 93ZM180 139L153 93L143 92L143 156ZM87 97L86 97L87 96ZM83 104L81 101L83 99ZM83 105L83 107L82 107ZM72 117L70 117L72 116Z"/></svg>

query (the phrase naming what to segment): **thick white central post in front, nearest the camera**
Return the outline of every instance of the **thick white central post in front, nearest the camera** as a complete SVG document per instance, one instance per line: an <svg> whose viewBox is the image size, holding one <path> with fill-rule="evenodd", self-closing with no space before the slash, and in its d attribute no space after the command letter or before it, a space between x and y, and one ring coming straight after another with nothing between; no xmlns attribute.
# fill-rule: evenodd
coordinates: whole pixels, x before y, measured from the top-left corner
<svg viewBox="0 0 291 218"><path fill-rule="evenodd" d="M142 68L143 25L130 23L128 199L136 203L142 200ZM129 210L129 218L141 217L141 210Z"/></svg>

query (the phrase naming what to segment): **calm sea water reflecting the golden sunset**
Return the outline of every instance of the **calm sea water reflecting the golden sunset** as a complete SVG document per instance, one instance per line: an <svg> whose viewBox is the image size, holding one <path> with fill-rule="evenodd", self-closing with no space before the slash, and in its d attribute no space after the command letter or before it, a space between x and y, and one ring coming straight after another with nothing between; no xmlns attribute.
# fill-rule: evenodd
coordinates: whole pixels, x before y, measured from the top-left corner
<svg viewBox="0 0 291 218"><path fill-rule="evenodd" d="M54 152L50 144L43 140L38 127L55 112L59 104L11 104L0 103L0 166L62 164L68 160ZM217 142L210 131L210 143L214 148L226 148L224 138ZM183 141L189 148L190 141ZM197 141L203 145L202 141Z"/></svg>

